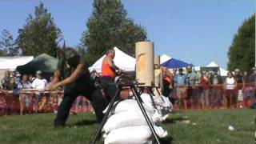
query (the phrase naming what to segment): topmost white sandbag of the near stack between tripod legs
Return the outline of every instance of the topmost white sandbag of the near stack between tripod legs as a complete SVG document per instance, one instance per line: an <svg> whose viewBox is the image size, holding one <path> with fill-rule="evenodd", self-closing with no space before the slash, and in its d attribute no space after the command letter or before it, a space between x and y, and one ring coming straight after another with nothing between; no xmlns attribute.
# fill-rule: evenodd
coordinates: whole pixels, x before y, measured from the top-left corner
<svg viewBox="0 0 256 144"><path fill-rule="evenodd" d="M146 113L153 115L154 109L153 107L149 107L143 104L144 109L146 110ZM119 102L117 106L115 106L113 114L117 114L120 112L128 111L128 110L140 110L138 103L133 99L127 99L122 102Z"/></svg>

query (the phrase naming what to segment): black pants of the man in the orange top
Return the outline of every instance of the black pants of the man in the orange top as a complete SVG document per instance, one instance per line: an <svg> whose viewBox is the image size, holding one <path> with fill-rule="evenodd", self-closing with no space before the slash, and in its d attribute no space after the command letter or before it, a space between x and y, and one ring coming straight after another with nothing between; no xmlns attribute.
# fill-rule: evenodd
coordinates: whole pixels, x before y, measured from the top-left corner
<svg viewBox="0 0 256 144"><path fill-rule="evenodd" d="M118 86L115 85L114 78L106 77L106 76L102 77L101 86L103 87L103 89L107 94L108 102L110 102L110 100L114 98L114 95L118 92ZM116 98L116 101L121 101L121 100L122 99L120 98L120 93L118 93L118 98Z"/></svg>

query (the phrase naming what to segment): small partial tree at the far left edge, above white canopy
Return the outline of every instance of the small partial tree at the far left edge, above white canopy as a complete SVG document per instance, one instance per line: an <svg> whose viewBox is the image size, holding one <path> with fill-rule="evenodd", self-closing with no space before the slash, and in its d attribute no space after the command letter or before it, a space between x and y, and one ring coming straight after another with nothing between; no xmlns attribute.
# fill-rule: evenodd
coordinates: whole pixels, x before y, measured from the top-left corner
<svg viewBox="0 0 256 144"><path fill-rule="evenodd" d="M8 30L2 30L0 51L0 55L2 56L17 56L19 54L18 46Z"/></svg>

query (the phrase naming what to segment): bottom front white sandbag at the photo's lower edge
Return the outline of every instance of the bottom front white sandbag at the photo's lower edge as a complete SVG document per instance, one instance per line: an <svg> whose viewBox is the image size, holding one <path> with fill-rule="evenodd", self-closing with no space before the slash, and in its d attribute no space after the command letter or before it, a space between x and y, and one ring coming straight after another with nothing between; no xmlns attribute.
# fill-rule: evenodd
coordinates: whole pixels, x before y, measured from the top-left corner
<svg viewBox="0 0 256 144"><path fill-rule="evenodd" d="M152 133L148 126L130 126L113 130L107 134L105 144L152 144Z"/></svg>

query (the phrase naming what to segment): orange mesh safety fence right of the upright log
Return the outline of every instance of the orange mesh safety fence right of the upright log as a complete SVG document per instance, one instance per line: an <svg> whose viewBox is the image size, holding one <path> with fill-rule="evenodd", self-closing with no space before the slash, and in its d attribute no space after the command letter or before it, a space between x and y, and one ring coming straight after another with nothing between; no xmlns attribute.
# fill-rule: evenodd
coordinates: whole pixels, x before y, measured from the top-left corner
<svg viewBox="0 0 256 144"><path fill-rule="evenodd" d="M246 108L254 104L255 84L174 86L169 97L175 109Z"/></svg>

